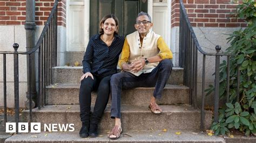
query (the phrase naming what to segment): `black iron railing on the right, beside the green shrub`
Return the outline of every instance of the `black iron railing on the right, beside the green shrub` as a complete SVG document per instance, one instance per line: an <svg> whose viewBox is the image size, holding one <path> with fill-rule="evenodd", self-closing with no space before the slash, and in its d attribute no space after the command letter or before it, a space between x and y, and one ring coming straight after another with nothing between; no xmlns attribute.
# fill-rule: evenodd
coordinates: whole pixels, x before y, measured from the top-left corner
<svg viewBox="0 0 256 143"><path fill-rule="evenodd" d="M203 54L203 76L202 76L202 99L201 99L201 124L200 128L204 128L205 116L205 58L207 56L215 56L215 80L214 80L214 122L218 122L219 111L219 82L220 82L220 56L227 56L227 102L229 102L229 87L230 87L230 56L225 53L220 53L221 47L215 47L216 53L206 53L200 47L196 34L194 34L190 20L188 19L183 0L180 3L180 26L179 26L179 66L184 68L184 84L190 88L190 105L195 109L197 105L197 69L198 69L198 51ZM239 68L239 67L238 67ZM238 77L240 71L238 70ZM238 78L239 88L239 78ZM239 89L237 92L237 100L239 100Z"/></svg>

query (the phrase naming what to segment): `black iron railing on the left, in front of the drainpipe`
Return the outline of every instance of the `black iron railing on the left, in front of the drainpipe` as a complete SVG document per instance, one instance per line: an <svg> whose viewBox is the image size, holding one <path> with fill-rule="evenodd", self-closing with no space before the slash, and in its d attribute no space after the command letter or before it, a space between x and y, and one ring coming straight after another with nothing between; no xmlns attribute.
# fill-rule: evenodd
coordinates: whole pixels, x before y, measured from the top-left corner
<svg viewBox="0 0 256 143"><path fill-rule="evenodd" d="M32 73L32 55L38 56L37 64L37 76L38 76L38 91L37 91L37 107L41 109L46 104L46 92L47 85L52 84L52 67L57 66L57 17L58 17L58 1L55 1L51 10L50 16L43 31L37 41L35 47L28 52L18 52L18 44L14 44L14 52L0 52L3 55L3 85L4 85L4 125L7 121L6 113L6 54L14 55L14 95L15 95L15 122L16 129L19 122L19 71L18 71L18 56L28 55L29 60L29 123L32 122L32 97L31 97L31 73ZM16 130L17 132L18 130Z"/></svg>

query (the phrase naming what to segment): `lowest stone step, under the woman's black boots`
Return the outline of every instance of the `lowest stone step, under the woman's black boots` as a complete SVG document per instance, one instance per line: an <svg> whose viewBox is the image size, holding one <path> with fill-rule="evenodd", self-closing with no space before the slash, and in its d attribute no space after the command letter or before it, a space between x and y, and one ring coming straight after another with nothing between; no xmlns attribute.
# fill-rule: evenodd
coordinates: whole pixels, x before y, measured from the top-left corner
<svg viewBox="0 0 256 143"><path fill-rule="evenodd" d="M176 132L181 132L177 135ZM41 132L41 133L26 133L16 134L5 140L5 143L58 143L58 142L214 142L224 143L228 138L209 136L205 132L199 131L180 131L167 130L160 131L124 131L118 140L110 140L107 138L107 131L101 131L97 138L80 138L78 132ZM245 140L247 141L247 140ZM251 140L253 141L253 140ZM255 140L254 140L255 141Z"/></svg>

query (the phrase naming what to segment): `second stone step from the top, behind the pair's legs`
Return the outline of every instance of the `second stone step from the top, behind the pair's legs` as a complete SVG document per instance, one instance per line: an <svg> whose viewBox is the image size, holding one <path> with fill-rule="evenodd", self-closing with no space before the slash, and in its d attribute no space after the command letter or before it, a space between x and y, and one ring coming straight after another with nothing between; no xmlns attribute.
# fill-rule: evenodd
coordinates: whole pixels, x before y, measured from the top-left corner
<svg viewBox="0 0 256 143"><path fill-rule="evenodd" d="M79 104L79 84L53 84L46 89L47 104ZM134 88L122 91L121 104L147 105L154 88ZM159 104L189 104L189 89L184 85L166 85ZM96 92L92 92L92 105L95 104ZM109 101L111 103L111 99Z"/></svg>

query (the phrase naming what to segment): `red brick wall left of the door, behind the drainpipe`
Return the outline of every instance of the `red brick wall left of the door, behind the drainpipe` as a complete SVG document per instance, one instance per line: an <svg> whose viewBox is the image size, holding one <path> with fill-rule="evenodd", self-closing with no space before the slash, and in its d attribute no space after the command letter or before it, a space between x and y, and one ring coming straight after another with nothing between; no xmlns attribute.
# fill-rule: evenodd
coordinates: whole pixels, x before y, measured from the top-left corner
<svg viewBox="0 0 256 143"><path fill-rule="evenodd" d="M55 0L36 0L36 24L44 25ZM66 0L58 4L58 25L66 26ZM24 25L26 0L0 0L0 25Z"/></svg>

